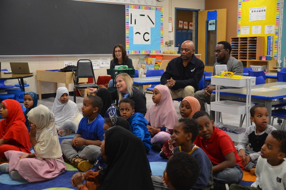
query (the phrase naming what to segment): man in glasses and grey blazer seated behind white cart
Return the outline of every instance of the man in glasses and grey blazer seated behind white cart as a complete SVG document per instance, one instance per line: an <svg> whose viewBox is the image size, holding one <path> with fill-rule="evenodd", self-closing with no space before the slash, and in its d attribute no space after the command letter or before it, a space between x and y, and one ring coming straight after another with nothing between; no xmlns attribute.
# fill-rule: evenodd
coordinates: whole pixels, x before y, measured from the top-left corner
<svg viewBox="0 0 286 190"><path fill-rule="evenodd" d="M227 71L235 73L235 75L243 75L243 64L242 61L235 59L230 55L231 46L227 41L220 41L216 49L214 49L214 54L216 54L217 62L213 65L213 75L216 75L216 65L226 65ZM221 86L221 89L228 88ZM197 91L195 98L197 98L201 104L201 110L205 111L204 103L208 104L211 101L216 100L212 91L216 90L216 86L209 85L207 88ZM214 111L210 111L211 119L214 119Z"/></svg>

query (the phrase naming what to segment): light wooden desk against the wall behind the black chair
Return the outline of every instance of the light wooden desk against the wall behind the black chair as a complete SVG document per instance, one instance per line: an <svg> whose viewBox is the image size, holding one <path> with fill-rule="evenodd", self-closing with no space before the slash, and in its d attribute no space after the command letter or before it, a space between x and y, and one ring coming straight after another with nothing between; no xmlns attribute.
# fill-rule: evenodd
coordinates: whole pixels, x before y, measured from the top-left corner
<svg viewBox="0 0 286 190"><path fill-rule="evenodd" d="M37 70L37 81L38 81L39 99L42 99L41 81L56 82L57 88L59 87L58 83L65 83L65 87L68 89L68 84L74 83L74 73ZM87 78L79 79L79 82L87 82Z"/></svg>

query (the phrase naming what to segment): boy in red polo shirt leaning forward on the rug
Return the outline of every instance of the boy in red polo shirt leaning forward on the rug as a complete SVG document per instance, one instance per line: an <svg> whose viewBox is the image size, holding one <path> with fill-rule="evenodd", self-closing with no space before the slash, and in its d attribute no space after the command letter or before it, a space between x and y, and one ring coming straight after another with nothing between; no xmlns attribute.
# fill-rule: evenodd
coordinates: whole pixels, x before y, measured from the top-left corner
<svg viewBox="0 0 286 190"><path fill-rule="evenodd" d="M213 125L207 112L196 112L193 119L199 123L194 144L201 147L212 163L214 189L226 189L232 183L239 183L243 165L231 138Z"/></svg>

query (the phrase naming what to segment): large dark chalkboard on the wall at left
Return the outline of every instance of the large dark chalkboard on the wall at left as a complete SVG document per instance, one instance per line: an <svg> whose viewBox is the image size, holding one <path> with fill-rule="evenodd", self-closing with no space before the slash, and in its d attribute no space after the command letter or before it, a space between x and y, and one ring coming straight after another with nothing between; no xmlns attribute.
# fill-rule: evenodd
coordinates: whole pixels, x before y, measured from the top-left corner
<svg viewBox="0 0 286 190"><path fill-rule="evenodd" d="M125 46L125 5L1 0L1 55L111 54Z"/></svg>

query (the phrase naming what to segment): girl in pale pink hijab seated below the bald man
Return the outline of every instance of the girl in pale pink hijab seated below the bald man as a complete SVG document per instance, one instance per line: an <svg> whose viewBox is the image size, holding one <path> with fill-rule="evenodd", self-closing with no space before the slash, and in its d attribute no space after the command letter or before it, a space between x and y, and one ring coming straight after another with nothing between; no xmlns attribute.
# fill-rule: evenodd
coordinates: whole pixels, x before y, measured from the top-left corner
<svg viewBox="0 0 286 190"><path fill-rule="evenodd" d="M157 85L153 90L152 105L145 118L148 121L148 131L151 134L151 142L161 145L171 138L173 127L178 121L178 115L169 91L165 85Z"/></svg>

